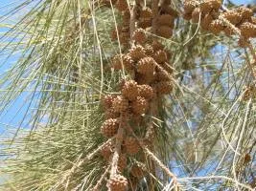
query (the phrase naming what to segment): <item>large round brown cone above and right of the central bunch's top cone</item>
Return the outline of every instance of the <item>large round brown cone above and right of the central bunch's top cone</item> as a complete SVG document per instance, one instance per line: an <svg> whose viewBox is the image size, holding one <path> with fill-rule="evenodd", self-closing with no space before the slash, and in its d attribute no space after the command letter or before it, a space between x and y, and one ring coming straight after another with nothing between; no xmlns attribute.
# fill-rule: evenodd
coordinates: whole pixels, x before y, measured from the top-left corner
<svg viewBox="0 0 256 191"><path fill-rule="evenodd" d="M137 72L139 74L153 74L156 62L150 56L142 58L137 64Z"/></svg>

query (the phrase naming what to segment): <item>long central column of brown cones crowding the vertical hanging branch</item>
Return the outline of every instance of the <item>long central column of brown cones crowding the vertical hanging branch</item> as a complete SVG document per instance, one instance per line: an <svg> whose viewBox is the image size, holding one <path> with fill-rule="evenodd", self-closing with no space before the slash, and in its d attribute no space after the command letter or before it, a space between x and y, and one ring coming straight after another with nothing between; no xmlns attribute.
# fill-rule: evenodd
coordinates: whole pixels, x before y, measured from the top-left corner
<svg viewBox="0 0 256 191"><path fill-rule="evenodd" d="M101 133L111 140L101 148L101 155L112 165L119 142L117 171L110 172L107 187L111 191L136 190L139 180L147 179L149 172L155 173L146 167L147 157L142 149L151 146L156 134L149 125L153 116L151 109L157 107L152 103L173 90L171 53L148 33L153 28L153 19L156 19L155 34L171 37L177 14L170 7L170 1L157 5L157 15L144 1L136 1L136 9L128 5L127 0L105 2L113 5L123 18L117 30L113 30L112 39L119 40L124 47L130 46L112 58L112 68L124 72L127 77L120 83L119 94L103 97L105 122ZM133 32L130 22L134 22ZM122 135L119 135L120 129Z"/></svg>

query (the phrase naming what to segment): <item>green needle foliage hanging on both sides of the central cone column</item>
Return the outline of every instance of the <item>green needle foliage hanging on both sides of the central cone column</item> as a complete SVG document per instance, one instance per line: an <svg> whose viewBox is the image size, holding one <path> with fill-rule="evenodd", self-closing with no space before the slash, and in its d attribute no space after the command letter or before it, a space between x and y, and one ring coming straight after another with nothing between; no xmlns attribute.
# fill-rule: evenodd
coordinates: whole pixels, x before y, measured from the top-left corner
<svg viewBox="0 0 256 191"><path fill-rule="evenodd" d="M8 29L1 34L1 66L9 68L0 77L0 117L24 99L12 115L22 118L1 138L0 189L90 190L108 168L100 155L88 159L105 141L100 100L115 94L124 76L111 69L120 47L110 31L120 15L89 0L18 4L0 18ZM181 15L182 2L172 4ZM252 190L256 184L256 105L242 98L253 81L253 57L237 40L179 16L173 38L163 41L173 54L175 91L160 101L154 118L154 154L184 190ZM18 59L9 66L12 57ZM155 190L172 190L158 171ZM149 190L146 180L139 190Z"/></svg>

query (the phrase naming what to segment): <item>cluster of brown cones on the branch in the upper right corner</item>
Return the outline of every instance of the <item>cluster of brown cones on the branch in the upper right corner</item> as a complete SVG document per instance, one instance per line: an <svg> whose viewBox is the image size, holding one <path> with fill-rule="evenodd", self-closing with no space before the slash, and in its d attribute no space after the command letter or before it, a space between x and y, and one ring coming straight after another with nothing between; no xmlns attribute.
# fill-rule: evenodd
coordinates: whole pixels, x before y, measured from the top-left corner
<svg viewBox="0 0 256 191"><path fill-rule="evenodd" d="M253 11L239 7L230 11L221 11L221 0L185 0L184 18L194 23L200 23L203 30L226 35L241 32L240 46L244 47L250 37L256 37L256 18Z"/></svg>

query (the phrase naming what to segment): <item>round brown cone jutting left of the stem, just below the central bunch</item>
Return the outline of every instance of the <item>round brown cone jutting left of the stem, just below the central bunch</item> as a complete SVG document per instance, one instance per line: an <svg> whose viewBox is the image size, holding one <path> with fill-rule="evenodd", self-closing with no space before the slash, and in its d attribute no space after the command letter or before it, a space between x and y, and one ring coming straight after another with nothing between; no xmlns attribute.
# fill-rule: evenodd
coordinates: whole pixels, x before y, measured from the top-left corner
<svg viewBox="0 0 256 191"><path fill-rule="evenodd" d="M105 120L105 122L103 123L101 132L106 138L111 138L117 133L118 127L119 127L118 119L109 118Z"/></svg>

